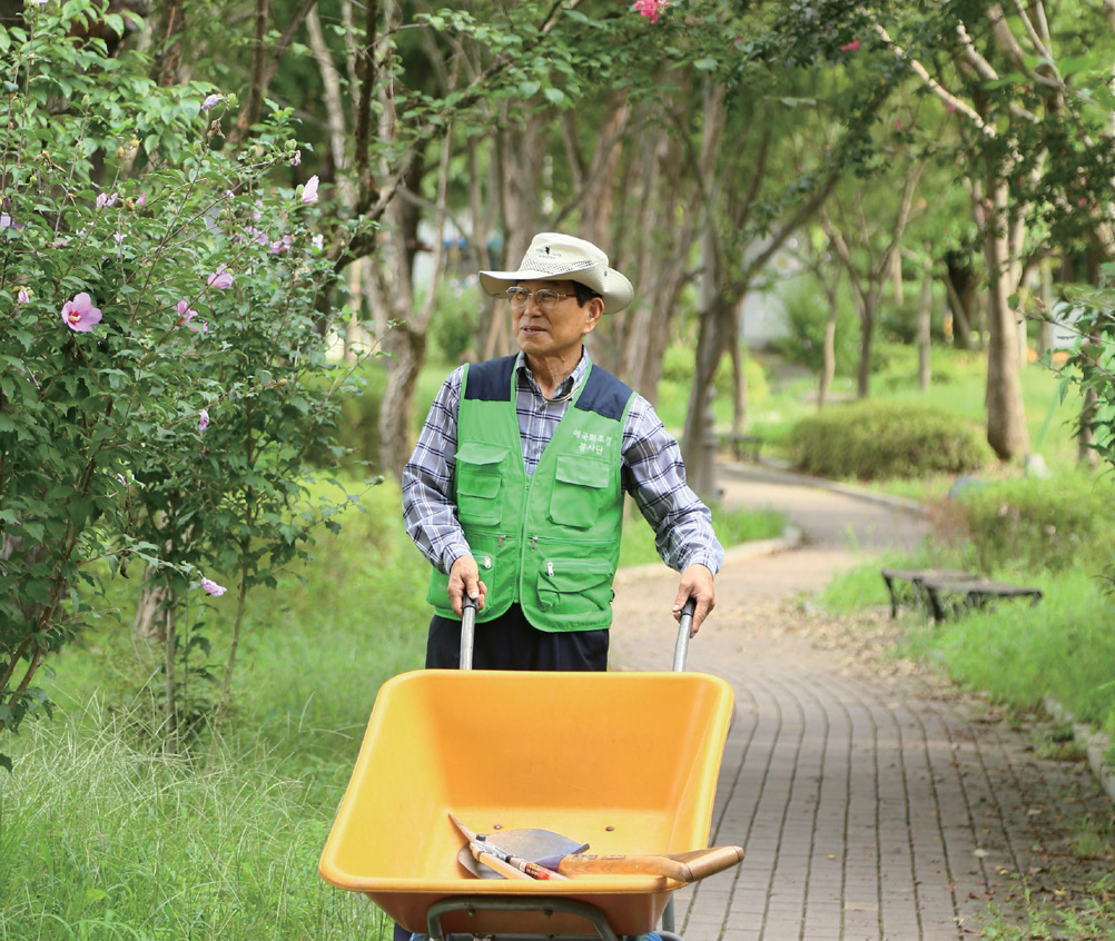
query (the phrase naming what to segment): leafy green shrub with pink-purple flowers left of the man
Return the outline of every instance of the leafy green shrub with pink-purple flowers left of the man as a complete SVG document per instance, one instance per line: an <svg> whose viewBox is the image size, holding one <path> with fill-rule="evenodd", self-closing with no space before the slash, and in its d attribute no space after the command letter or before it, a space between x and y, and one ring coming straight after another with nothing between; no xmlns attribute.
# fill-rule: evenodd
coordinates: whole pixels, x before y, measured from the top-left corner
<svg viewBox="0 0 1115 941"><path fill-rule="evenodd" d="M221 152L224 97L69 39L89 10L0 37L0 729L48 707L32 680L89 617L91 563L154 580L173 621L216 573L242 611L304 552L303 457L353 391L324 359L317 177L272 180L289 114Z"/></svg>

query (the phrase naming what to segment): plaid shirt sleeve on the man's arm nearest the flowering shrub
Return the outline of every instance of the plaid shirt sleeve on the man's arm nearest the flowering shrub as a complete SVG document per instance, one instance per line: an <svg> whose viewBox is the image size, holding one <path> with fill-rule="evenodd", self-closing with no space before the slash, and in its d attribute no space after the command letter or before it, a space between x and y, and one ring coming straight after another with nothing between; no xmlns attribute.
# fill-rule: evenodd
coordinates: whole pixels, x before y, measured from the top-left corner
<svg viewBox="0 0 1115 941"><path fill-rule="evenodd" d="M429 408L414 453L403 468L403 522L430 564L448 573L469 552L453 501L457 409L464 369L449 374Z"/></svg>

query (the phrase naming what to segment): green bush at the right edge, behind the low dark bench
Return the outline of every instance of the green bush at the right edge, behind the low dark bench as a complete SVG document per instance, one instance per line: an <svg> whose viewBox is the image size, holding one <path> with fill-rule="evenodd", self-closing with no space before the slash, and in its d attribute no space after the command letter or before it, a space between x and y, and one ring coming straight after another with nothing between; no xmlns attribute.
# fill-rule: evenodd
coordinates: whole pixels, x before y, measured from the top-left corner
<svg viewBox="0 0 1115 941"><path fill-rule="evenodd" d="M981 571L1008 565L1053 572L1115 560L1115 492L1108 477L1020 477L958 494L961 532Z"/></svg>

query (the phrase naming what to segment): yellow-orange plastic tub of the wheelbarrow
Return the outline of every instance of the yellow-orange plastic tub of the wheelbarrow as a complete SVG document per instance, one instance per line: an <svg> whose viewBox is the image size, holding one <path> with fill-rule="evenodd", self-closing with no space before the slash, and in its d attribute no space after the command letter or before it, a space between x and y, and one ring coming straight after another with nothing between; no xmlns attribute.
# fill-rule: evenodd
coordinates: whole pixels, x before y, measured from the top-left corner
<svg viewBox="0 0 1115 941"><path fill-rule="evenodd" d="M597 906L617 934L653 930L679 883L651 875L476 879L453 813L478 833L550 830L590 853L708 845L733 690L706 673L418 670L388 680L321 856L410 931L445 899L536 895ZM554 912L454 912L447 932L576 934Z"/></svg>

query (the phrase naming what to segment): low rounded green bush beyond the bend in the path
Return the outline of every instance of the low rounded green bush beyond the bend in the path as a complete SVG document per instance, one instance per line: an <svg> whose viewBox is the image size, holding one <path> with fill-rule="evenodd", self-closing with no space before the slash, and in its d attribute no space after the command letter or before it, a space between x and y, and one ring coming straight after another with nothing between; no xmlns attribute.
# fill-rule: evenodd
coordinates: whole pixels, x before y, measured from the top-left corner
<svg viewBox="0 0 1115 941"><path fill-rule="evenodd" d="M925 406L871 401L799 420L785 446L795 469L835 479L963 474L991 457L975 425Z"/></svg>

